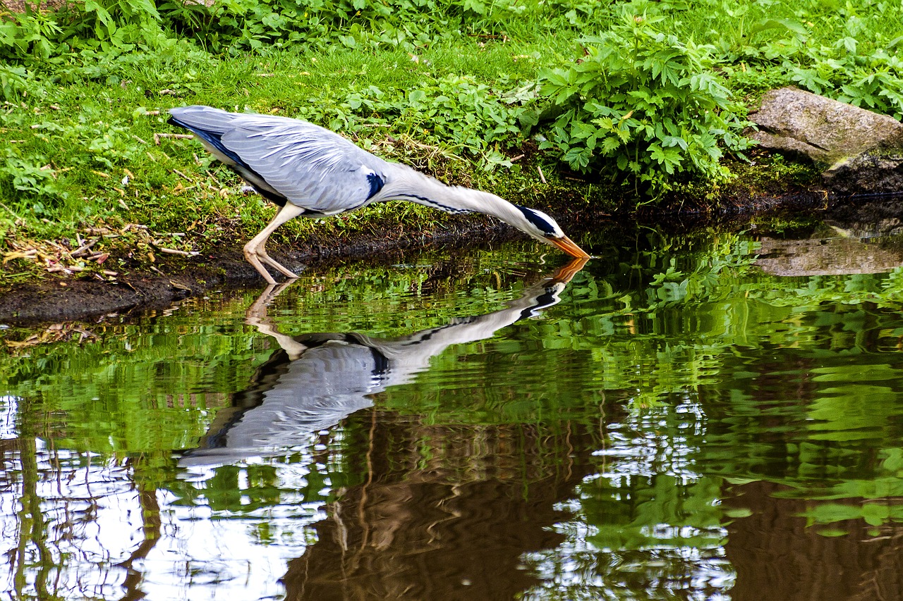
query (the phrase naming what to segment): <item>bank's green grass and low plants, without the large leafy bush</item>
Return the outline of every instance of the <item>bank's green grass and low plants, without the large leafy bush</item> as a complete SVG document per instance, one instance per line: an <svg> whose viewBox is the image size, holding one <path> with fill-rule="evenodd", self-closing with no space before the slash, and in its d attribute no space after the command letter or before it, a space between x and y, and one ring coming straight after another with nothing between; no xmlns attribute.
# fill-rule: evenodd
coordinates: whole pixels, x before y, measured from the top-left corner
<svg viewBox="0 0 903 601"><path fill-rule="evenodd" d="M233 25L165 12L158 21L140 5L123 14L119 5L100 3L119 23L118 38L91 21L98 14L69 21L51 14L41 17L46 47L11 35L7 21L0 28L0 252L129 223L187 233L180 238L186 249L234 244L258 231L273 209L238 197L239 180L200 144L154 143L154 134L177 133L165 124L165 109L185 104L300 116L389 159L526 204L554 203L567 188L570 198L576 190L600 210L622 205L629 189L617 187L616 160L596 163L588 187L557 169L564 151L510 159L535 134L549 134L554 120L535 85L540 70L577 64L582 39L609 31L625 11L658 19L656 29L678 41L709 45L712 72L735 99L751 103L768 88L796 83L890 115L903 111L903 10L890 2L391 0L396 11L388 16L355 14L354 4L322 4L314 27L312 15L292 13L288 0L238 3L248 12L244 24ZM274 20L274 11L293 20ZM270 29L261 25L267 14ZM68 23L58 38L46 25L53 19ZM537 163L549 185L538 181ZM698 175L673 183L678 196L711 193ZM396 203L342 219L296 219L275 239L430 227L442 219ZM124 236L99 244L115 250L133 242ZM26 263L10 261L5 270L21 273Z"/></svg>

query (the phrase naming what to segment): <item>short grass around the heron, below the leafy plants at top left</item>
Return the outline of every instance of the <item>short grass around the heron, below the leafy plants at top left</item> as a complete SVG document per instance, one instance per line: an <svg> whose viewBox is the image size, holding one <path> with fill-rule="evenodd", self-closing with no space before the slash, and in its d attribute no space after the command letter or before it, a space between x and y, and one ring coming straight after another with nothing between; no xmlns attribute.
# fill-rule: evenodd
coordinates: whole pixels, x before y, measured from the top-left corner
<svg viewBox="0 0 903 601"><path fill-rule="evenodd" d="M534 190L548 188L535 172L524 178L517 169L494 173L475 169L475 154L425 133L416 115L396 119L391 126L370 127L388 119L372 112L355 114L346 98L355 90L376 87L404 104L408 90L428 89L462 72L474 85L492 85L499 79L517 82L535 71L535 59L524 57L541 51L547 49L535 43L479 47L474 41L467 47L446 44L424 51L417 55L418 62L397 50L338 49L306 56L281 51L231 60L182 51L168 60L150 56L136 63L114 63L96 69L92 79L34 78L33 92L3 110L3 128L10 140L17 141L8 152L21 162L20 171L27 167L33 175L18 184L29 190L12 189L10 180L0 186L0 232L5 232L0 236L7 245L18 241L28 246L43 239L74 241L79 232L87 238L88 227L116 230L137 223L158 233L188 231L182 245L173 244L186 250L253 236L272 217L272 206L256 195L237 196L242 182L212 161L199 143L167 137L154 143L154 134L183 133L165 123L165 109L184 104L303 116L353 135L371 148L392 135L398 143L373 150L445 180L520 192L520 198L535 204ZM155 111L160 113L152 114ZM45 165L49 168L42 170ZM296 219L281 228L275 240L290 241L314 232L347 237L376 227L425 228L444 218L428 208L392 203L342 218ZM102 240L98 249L131 243L129 236ZM9 266L21 269L23 263Z"/></svg>

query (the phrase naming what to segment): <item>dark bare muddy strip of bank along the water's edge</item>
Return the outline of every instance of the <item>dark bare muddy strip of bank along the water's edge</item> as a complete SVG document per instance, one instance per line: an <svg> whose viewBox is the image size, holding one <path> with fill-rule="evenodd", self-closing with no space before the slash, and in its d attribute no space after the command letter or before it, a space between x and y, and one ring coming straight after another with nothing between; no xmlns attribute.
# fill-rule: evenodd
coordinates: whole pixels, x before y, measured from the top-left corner
<svg viewBox="0 0 903 601"><path fill-rule="evenodd" d="M739 195L723 200L719 208L709 209L690 203L675 210L640 208L633 214L614 217L591 212L554 211L565 231L580 236L622 220L649 226L675 229L706 227L743 227L750 219L781 211L805 211L829 216L832 212L851 213L859 199L828 199L820 190L796 190L783 196L749 199ZM404 262L406 252L460 249L462 245L492 245L523 235L512 227L485 217L453 217L428 232L386 231L380 236L358 236L353 243L312 240L303 246L271 243L271 254L289 269L301 271L335 266L346 261L368 259L377 264ZM579 238L578 238L579 239ZM192 295L242 286L263 288L265 282L241 254L241 244L211 251L196 257L164 257L154 264L135 265L113 282L90 278L45 276L0 294L0 324L27 324L49 321L90 319L105 313L123 313L168 307Z"/></svg>

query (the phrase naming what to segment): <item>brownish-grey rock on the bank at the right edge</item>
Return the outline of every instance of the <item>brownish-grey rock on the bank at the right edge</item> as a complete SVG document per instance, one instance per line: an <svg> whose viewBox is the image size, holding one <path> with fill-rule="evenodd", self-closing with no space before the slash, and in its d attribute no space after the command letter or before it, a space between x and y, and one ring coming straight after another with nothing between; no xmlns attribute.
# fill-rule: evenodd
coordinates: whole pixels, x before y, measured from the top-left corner
<svg viewBox="0 0 903 601"><path fill-rule="evenodd" d="M825 184L838 193L903 190L903 124L797 88L762 97L749 115L762 147L823 165Z"/></svg>

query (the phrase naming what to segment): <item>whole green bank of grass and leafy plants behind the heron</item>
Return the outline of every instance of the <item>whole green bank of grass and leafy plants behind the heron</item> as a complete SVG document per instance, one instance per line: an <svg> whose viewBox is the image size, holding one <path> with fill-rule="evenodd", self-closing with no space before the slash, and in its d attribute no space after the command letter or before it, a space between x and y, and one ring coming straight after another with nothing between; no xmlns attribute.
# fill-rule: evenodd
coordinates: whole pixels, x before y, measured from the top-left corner
<svg viewBox="0 0 903 601"><path fill-rule="evenodd" d="M443 180L597 213L717 202L737 166L767 186L769 171L743 167L741 130L768 88L795 84L903 114L893 3L128 6L4 16L7 283L54 266L115 277L160 249L234 246L263 227L272 208L240 194L198 143L166 135L176 133L170 106L303 117ZM805 172L780 169L780 178ZM297 219L274 241L340 241L444 218L396 203Z"/></svg>

